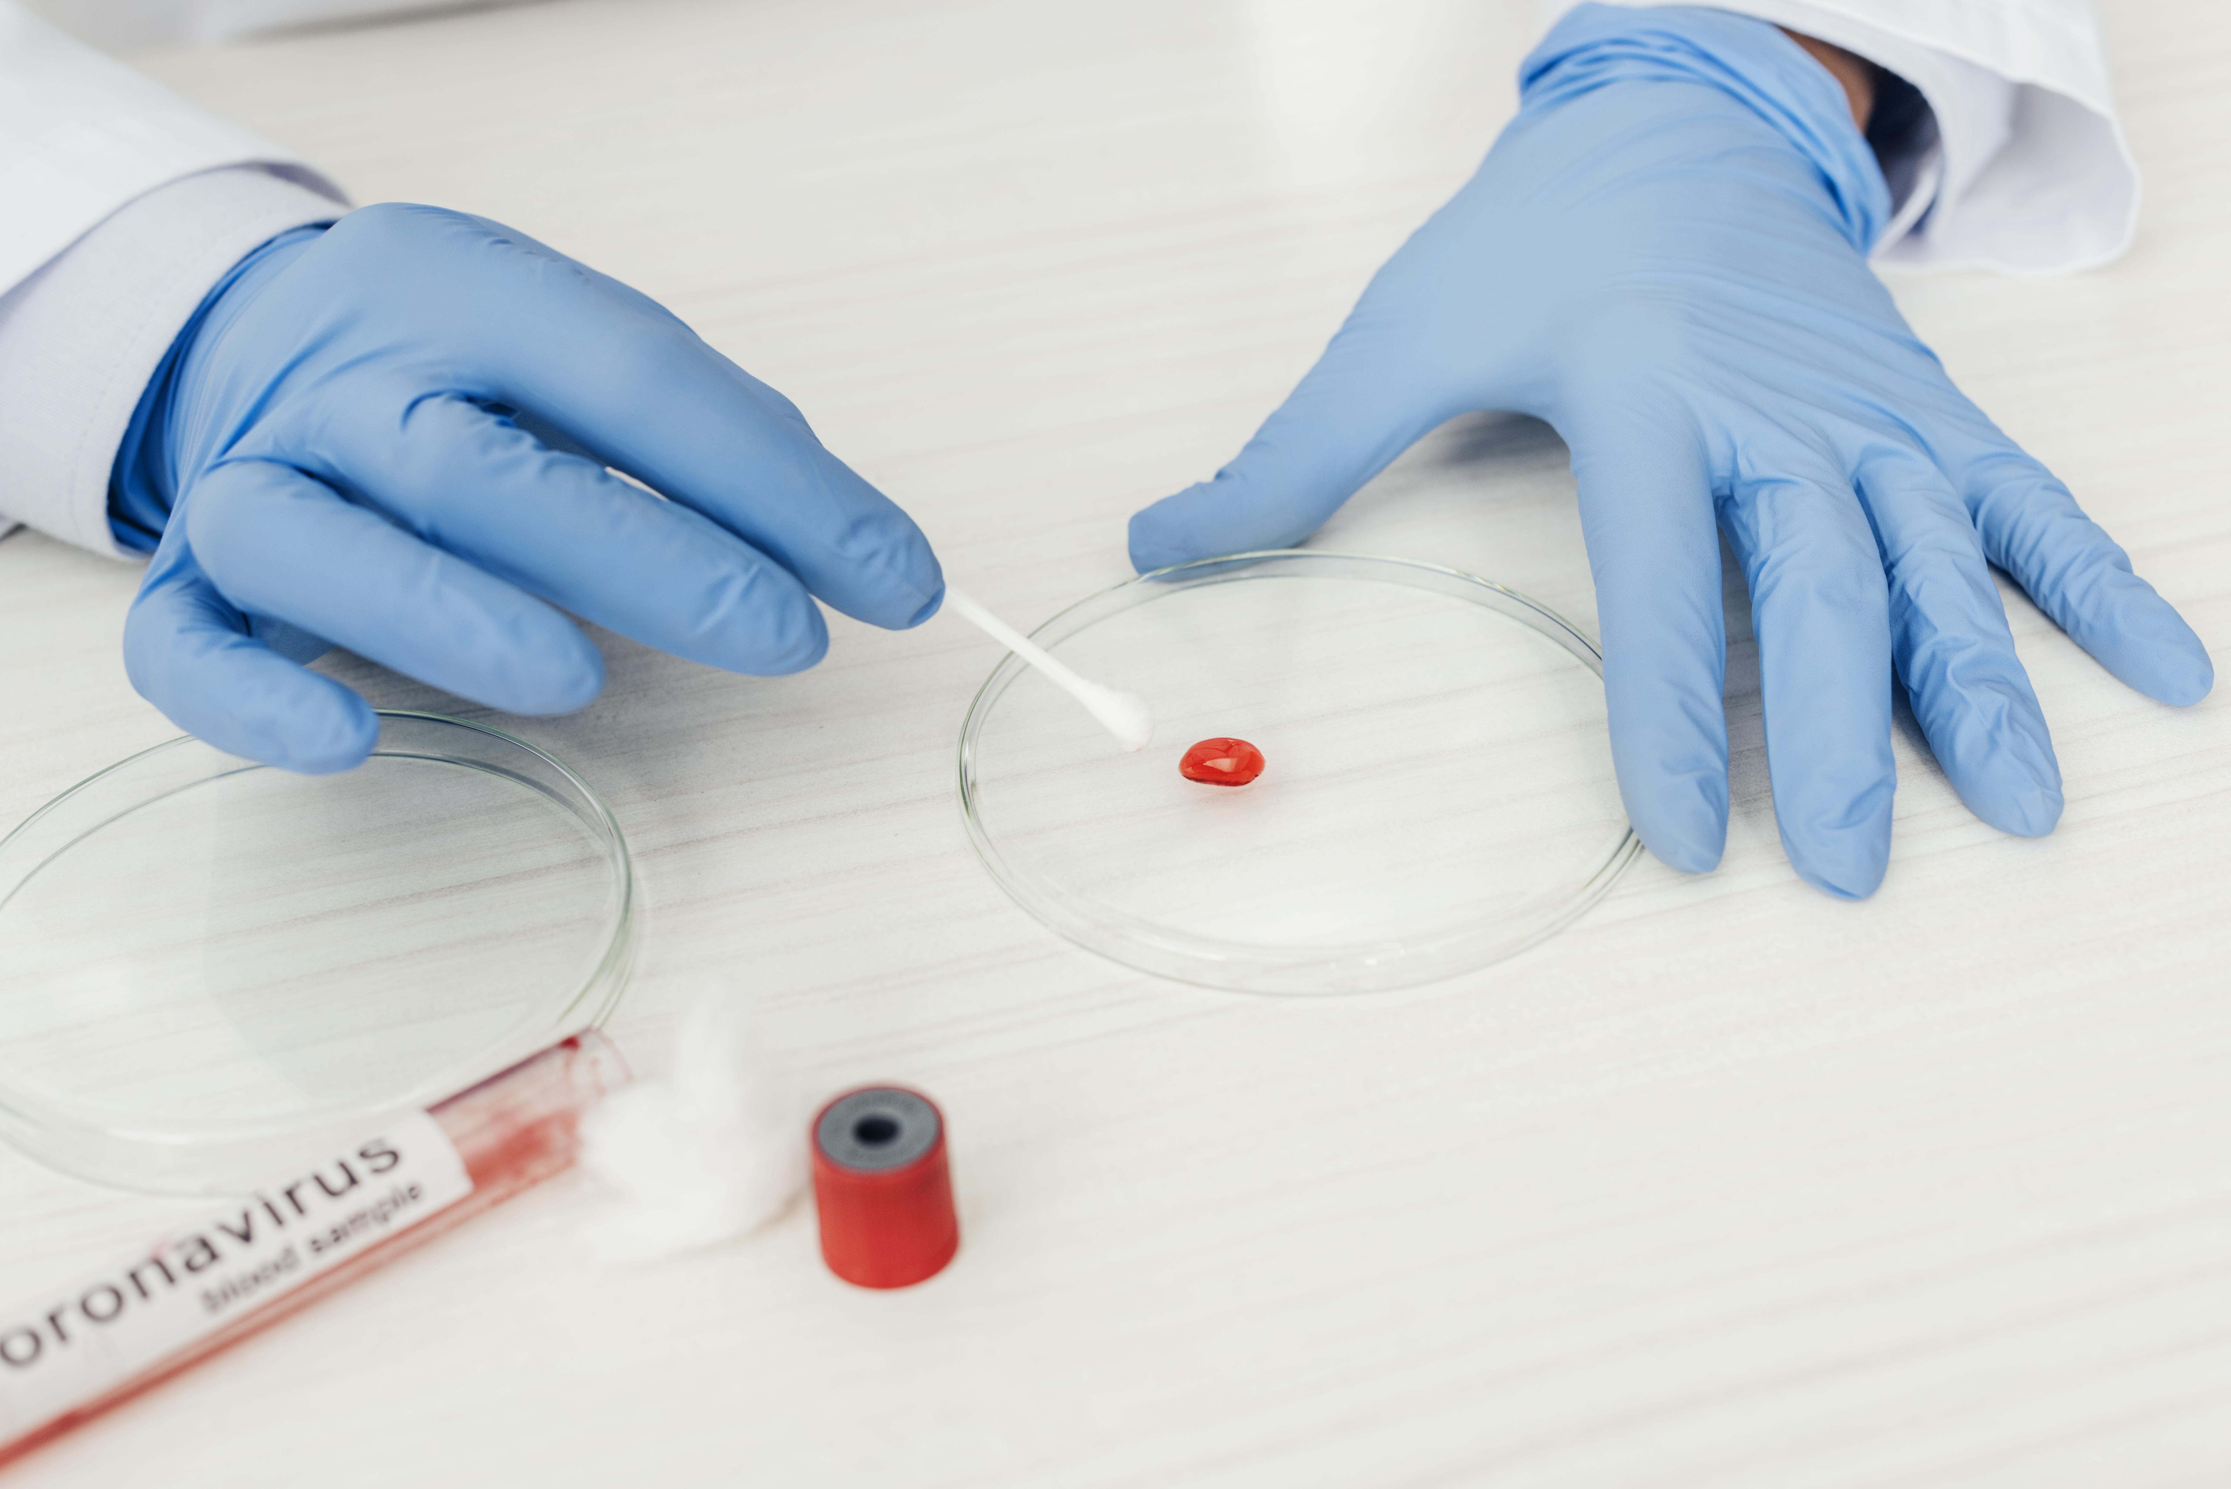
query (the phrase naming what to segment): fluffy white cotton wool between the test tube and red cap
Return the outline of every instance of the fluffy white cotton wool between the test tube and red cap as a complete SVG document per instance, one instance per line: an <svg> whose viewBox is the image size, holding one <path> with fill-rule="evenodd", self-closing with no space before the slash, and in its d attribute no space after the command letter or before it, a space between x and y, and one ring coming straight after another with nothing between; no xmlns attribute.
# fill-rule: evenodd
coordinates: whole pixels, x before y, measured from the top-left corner
<svg viewBox="0 0 2231 1489"><path fill-rule="evenodd" d="M727 987L683 1016L669 1072L607 1096L580 1139L582 1165L618 1197L587 1228L602 1261L727 1241L805 1188L805 1114Z"/></svg>

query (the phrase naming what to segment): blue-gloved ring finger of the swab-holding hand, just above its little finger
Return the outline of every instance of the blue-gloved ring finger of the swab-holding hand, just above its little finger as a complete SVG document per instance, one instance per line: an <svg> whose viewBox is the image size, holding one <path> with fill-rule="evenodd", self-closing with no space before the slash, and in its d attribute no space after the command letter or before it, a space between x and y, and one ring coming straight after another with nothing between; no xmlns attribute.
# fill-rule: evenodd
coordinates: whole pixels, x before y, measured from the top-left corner
<svg viewBox="0 0 2231 1489"><path fill-rule="evenodd" d="M513 714L571 712L605 683L602 656L562 614L292 467L221 464L183 516L234 607L395 672Z"/></svg>

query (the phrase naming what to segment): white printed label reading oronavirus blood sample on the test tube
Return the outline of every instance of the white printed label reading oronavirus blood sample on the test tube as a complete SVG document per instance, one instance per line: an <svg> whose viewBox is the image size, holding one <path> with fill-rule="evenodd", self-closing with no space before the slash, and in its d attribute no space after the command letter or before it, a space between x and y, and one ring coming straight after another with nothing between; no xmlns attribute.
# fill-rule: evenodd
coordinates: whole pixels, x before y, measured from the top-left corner
<svg viewBox="0 0 2231 1489"><path fill-rule="evenodd" d="M0 1315L0 1442L91 1404L471 1192L448 1134L413 1112L138 1261Z"/></svg>

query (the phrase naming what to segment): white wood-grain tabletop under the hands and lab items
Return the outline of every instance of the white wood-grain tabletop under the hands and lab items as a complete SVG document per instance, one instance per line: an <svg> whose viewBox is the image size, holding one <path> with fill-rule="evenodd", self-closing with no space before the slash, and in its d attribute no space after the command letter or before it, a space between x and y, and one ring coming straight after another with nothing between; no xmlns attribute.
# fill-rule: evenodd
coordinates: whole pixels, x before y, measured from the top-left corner
<svg viewBox="0 0 2231 1489"><path fill-rule="evenodd" d="M1513 107L1517 0L569 0L149 60L361 201L513 223L674 306L1035 623L1223 462ZM2064 281L1901 281L1961 384L2231 638L2231 11L2108 7L2146 221ZM1564 451L1475 420L1319 542L1593 625ZM0 824L174 730L134 571L0 542ZM1644 857L1526 955L1254 1000L1055 940L950 757L993 650L837 621L750 681L605 636L513 721L634 842L640 1067L736 978L808 1089L953 1123L930 1286L810 1212L602 1272L567 1179L22 1464L25 1485L2220 1485L2231 1480L2231 714L2019 596L2044 842L1901 739L1865 904L1785 866L1729 596L1727 862ZM388 705L457 708L328 661ZM473 712L473 710L460 710ZM120 915L129 906L118 906ZM0 1281L201 1205L0 1152Z"/></svg>

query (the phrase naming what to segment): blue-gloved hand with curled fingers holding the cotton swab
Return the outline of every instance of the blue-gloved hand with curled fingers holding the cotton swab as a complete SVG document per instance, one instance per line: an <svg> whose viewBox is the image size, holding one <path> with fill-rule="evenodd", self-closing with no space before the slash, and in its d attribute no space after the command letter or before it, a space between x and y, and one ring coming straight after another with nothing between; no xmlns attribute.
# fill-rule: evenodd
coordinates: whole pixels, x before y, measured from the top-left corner
<svg viewBox="0 0 2231 1489"><path fill-rule="evenodd" d="M553 714L605 676L558 607L776 674L828 647L812 596L888 627L944 596L921 531L790 400L636 290L435 208L250 254L141 400L112 520L161 534L134 688L290 770L346 770L377 734L299 665L328 643Z"/></svg>

